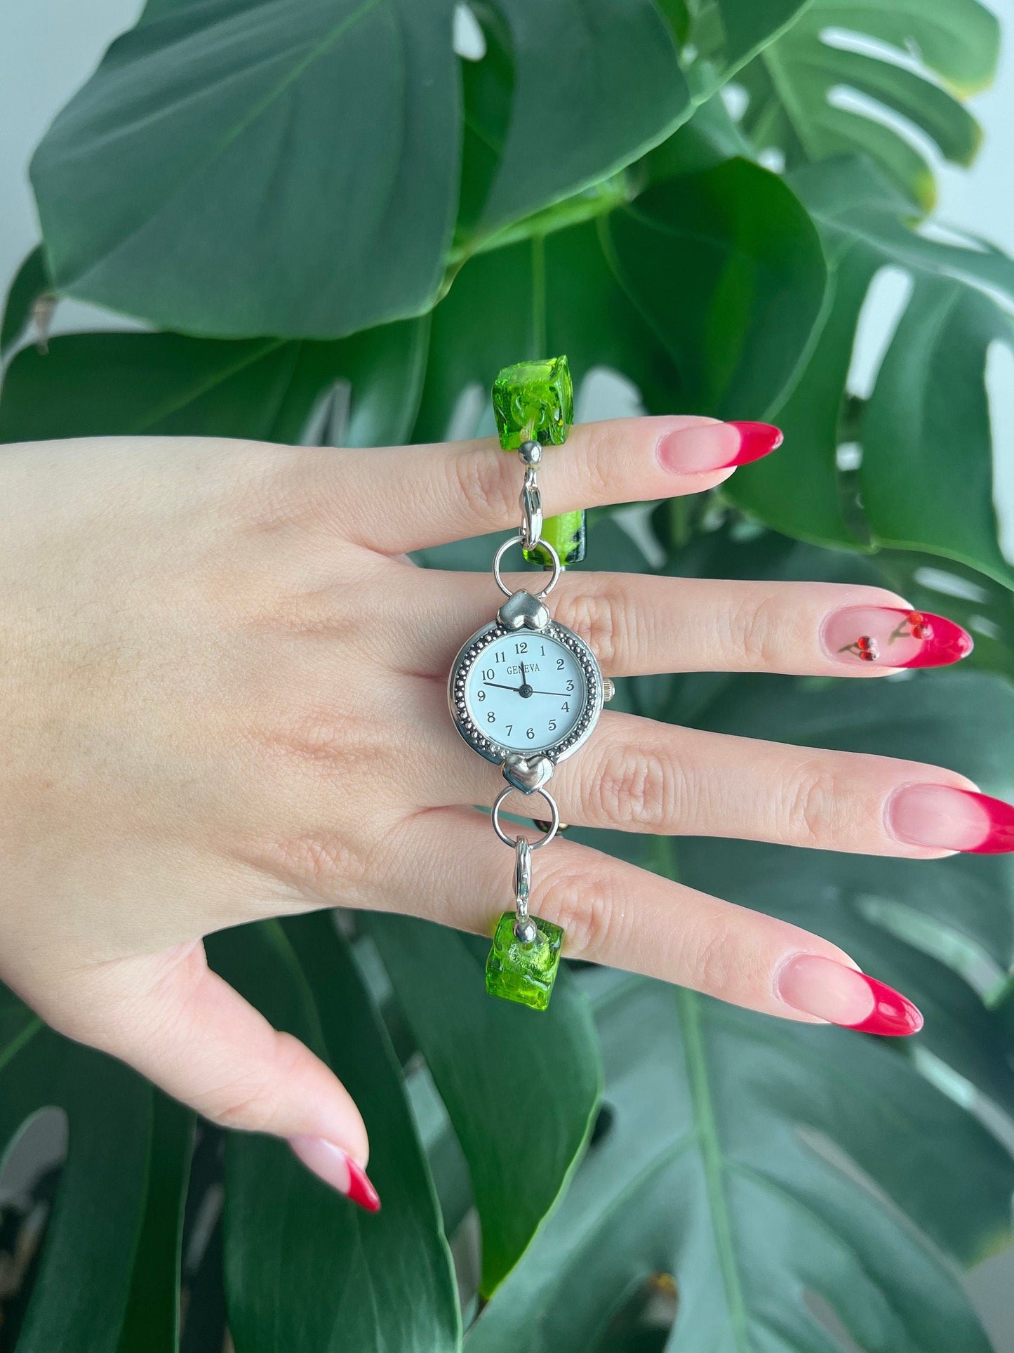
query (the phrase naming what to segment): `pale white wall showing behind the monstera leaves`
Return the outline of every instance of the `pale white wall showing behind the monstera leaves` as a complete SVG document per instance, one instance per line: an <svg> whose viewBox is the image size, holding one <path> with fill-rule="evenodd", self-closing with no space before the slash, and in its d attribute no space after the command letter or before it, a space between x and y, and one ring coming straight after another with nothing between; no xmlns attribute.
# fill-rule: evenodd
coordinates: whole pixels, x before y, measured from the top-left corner
<svg viewBox="0 0 1014 1353"><path fill-rule="evenodd" d="M1014 254L1014 0L992 0L1005 31L1011 35L999 78L972 104L986 129L986 143L965 172L940 168L938 216L986 235ZM128 27L139 0L4 0L0 18L0 292L22 258L38 241L26 165L32 147L57 110L99 61L105 45ZM891 295L868 315L865 345L879 349L891 323ZM95 327L103 317L84 306L64 303L55 329ZM116 321L114 321L116 322ZM860 352L863 367L868 353ZM998 456L996 497L1014 557L1014 382L1011 367L998 363L990 394ZM991 1260L969 1277L969 1289L992 1334L998 1353L1014 1353L1014 1257ZM957 1350L956 1350L957 1353Z"/></svg>

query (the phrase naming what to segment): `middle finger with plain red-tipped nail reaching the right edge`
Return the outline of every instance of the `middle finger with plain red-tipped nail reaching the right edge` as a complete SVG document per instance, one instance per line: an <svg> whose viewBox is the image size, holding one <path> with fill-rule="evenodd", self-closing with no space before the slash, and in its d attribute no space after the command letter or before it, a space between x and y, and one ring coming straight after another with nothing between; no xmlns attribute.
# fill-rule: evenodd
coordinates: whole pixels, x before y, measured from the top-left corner
<svg viewBox="0 0 1014 1353"><path fill-rule="evenodd" d="M433 729L435 747L406 767L407 794L420 808L491 802L503 779L452 727L442 687L426 681L412 689L404 713L414 728ZM557 766L550 787L562 820L579 827L910 859L984 848L991 808L1006 808L965 777L923 762L792 747L612 712L602 716L580 756ZM518 802L515 812L522 810ZM919 823L934 844L913 843ZM955 835L937 840L932 831L938 823Z"/></svg>

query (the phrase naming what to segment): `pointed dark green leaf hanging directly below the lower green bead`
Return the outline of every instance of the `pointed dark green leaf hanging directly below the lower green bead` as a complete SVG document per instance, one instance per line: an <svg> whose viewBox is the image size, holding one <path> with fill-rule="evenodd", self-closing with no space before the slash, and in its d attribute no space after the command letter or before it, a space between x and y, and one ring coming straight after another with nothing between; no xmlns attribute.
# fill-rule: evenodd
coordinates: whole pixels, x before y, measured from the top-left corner
<svg viewBox="0 0 1014 1353"><path fill-rule="evenodd" d="M488 940L380 913L370 934L468 1161L491 1296L584 1147L600 1091L591 1011L566 971L545 1013L491 1000Z"/></svg>

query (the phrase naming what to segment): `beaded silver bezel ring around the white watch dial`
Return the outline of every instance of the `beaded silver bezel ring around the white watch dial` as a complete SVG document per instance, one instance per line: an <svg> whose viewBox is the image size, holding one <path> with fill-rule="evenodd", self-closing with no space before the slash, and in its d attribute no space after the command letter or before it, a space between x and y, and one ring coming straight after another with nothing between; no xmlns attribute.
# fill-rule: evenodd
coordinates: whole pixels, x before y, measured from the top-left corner
<svg viewBox="0 0 1014 1353"><path fill-rule="evenodd" d="M554 620L550 620L549 624L544 625L541 629L518 630L503 625L499 620L492 620L489 624L483 625L481 629L477 629L475 635L472 635L470 639L466 639L461 645L450 668L450 676L448 679L448 704L450 706L450 716L454 720L454 727L468 746L495 766L503 766L508 756L526 755L526 752L519 751L516 747L502 747L492 737L488 737L473 721L468 712L468 705L465 704L465 683L468 681L468 674L472 671L472 667L475 667L483 651L499 639L510 635L516 637L518 633L527 633L533 636L549 635L557 643L564 644L573 652L581 664L581 670L584 671L585 700L584 709L581 710L577 723L565 737L560 739L558 743L553 743L549 747L537 747L533 744L530 750L531 756L546 756L550 762L553 762L553 764L556 764L557 762L572 756L577 748L588 740L599 721L603 705L603 679L599 662L581 636L575 635L575 632L568 629L566 625L560 625Z"/></svg>

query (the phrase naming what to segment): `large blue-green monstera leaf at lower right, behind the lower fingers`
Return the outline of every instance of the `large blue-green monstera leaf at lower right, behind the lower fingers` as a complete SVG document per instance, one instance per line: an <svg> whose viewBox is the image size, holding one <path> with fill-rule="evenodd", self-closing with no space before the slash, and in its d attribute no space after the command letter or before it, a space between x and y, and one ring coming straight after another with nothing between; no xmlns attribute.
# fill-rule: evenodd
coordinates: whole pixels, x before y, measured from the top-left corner
<svg viewBox="0 0 1014 1353"><path fill-rule="evenodd" d="M757 561L756 551L727 536L713 548L752 575L737 556ZM806 568L788 564L794 552L781 543L783 575ZM994 793L1014 787L1014 695L994 676L638 686L646 709L695 727L932 754ZM577 835L827 935L906 990L926 1027L899 1046L580 974L606 1058L600 1123L562 1207L470 1330L469 1353L584 1353L639 1293L667 1284L673 1353L987 1353L956 1265L1009 1243L1014 1162L953 1086L1014 1115L1005 1019L969 985L988 961L987 994L1006 990L1010 863Z"/></svg>

